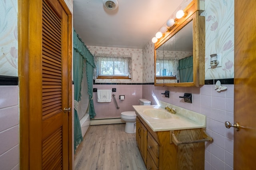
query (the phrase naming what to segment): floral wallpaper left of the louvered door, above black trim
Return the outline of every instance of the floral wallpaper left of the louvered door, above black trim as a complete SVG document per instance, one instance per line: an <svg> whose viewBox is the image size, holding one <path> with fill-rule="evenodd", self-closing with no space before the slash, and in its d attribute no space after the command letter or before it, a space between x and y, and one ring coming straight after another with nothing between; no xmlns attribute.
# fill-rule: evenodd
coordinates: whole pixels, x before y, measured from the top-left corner
<svg viewBox="0 0 256 170"><path fill-rule="evenodd" d="M0 0L0 75L18 76L17 0Z"/></svg>

